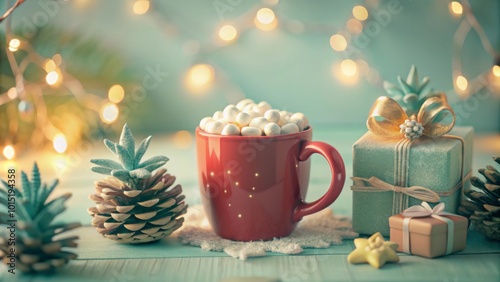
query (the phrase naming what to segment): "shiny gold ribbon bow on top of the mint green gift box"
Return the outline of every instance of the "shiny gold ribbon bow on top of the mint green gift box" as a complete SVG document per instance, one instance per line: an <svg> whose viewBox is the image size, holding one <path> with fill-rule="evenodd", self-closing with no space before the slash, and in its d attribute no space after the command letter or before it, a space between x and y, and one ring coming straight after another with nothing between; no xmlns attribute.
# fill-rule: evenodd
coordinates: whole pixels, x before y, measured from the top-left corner
<svg viewBox="0 0 500 282"><path fill-rule="evenodd" d="M451 121L444 121L444 117L448 113L451 114L452 119ZM404 133L401 132L400 126L404 125L406 120L416 120L416 122L420 123L423 126L421 134L429 137L439 137L453 128L455 113L444 94L428 98L420 107L417 115L411 117L408 117L394 99L382 96L373 104L366 126L368 130L378 136L401 138Z"/></svg>

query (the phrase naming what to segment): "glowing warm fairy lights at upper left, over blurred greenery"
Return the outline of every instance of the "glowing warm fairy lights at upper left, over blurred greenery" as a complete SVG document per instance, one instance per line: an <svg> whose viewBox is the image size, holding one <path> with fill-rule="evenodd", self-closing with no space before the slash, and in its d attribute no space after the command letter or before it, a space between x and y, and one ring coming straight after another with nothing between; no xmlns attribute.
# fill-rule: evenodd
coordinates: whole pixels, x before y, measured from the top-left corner
<svg viewBox="0 0 500 282"><path fill-rule="evenodd" d="M11 1L7 1L7 5L9 5L9 2ZM81 106L96 112L96 115L100 117L104 124L112 124L118 119L118 104L125 97L125 90L119 84L112 85L109 88L107 99L87 92L82 82L66 71L61 54L54 54L52 57L46 58L36 51L28 39L17 37L12 32L11 13L23 2L15 1L13 6L0 17L0 22L5 21L6 54L14 76L14 85L4 93L0 93L0 106L6 104L5 108L9 117L6 121L8 123L8 133L2 133L2 138L0 138L1 141L5 142L2 153L7 160L14 159L16 151L30 147L29 144L17 142L17 133L20 127L19 120L26 122L26 116L30 115L30 113L35 113L31 140L37 144L43 144L43 140L48 140L52 143L55 152L63 154L71 145L69 141L75 141L74 139L81 137L80 135L68 136L68 132L63 132L51 122L44 99L45 95L49 95L48 91L45 91L47 88L66 88ZM24 54L16 56L20 52L24 52ZM25 79L26 70L33 65L41 73L41 81ZM78 140L71 143L77 142Z"/></svg>

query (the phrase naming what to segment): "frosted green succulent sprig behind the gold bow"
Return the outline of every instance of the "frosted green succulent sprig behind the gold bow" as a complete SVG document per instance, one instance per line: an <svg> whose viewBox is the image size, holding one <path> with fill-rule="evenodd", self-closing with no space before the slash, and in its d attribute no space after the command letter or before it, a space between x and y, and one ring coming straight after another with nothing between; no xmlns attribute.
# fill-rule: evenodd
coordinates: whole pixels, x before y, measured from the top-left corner
<svg viewBox="0 0 500 282"><path fill-rule="evenodd" d="M427 89L429 77L424 77L420 82L415 66L411 66L406 81L398 76L398 84L384 81L385 91L399 103L408 116L417 114L424 101L433 95L432 89Z"/></svg>

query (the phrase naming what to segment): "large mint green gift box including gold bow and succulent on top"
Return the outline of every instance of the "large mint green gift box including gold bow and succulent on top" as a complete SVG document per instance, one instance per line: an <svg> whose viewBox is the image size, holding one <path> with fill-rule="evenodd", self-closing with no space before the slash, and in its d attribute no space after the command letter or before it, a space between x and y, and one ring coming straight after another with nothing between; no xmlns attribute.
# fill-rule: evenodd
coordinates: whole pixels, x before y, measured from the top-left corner
<svg viewBox="0 0 500 282"><path fill-rule="evenodd" d="M422 201L456 213L472 162L472 127L456 127L443 93L424 91L412 67L400 87L385 83L353 145L353 228L389 236L388 218Z"/></svg>

